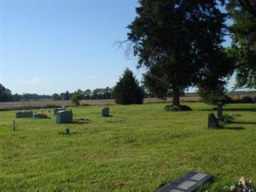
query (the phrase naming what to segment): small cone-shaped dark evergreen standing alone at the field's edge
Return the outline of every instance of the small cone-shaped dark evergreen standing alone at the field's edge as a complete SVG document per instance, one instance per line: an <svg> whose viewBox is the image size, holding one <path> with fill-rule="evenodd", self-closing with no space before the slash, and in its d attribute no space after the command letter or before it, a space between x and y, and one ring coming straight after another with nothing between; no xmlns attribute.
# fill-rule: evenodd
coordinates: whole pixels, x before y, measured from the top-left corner
<svg viewBox="0 0 256 192"><path fill-rule="evenodd" d="M122 77L114 88L114 97L117 104L142 104L144 93L131 70L126 68Z"/></svg>

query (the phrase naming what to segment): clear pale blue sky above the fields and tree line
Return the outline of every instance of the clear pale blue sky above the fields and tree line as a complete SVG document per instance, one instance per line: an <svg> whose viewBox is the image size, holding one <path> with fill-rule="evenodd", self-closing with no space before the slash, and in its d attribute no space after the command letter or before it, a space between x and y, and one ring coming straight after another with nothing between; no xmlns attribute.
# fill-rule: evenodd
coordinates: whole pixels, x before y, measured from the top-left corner
<svg viewBox="0 0 256 192"><path fill-rule="evenodd" d="M114 45L126 38L136 0L0 1L1 82L13 93L111 87L126 67L141 80L143 69Z"/></svg>

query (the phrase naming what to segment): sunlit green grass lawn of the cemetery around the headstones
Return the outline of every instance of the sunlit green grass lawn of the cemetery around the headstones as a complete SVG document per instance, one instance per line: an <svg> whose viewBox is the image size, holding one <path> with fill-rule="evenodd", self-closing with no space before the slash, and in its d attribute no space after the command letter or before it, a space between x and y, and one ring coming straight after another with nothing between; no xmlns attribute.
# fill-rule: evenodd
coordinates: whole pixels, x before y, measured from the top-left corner
<svg viewBox="0 0 256 192"><path fill-rule="evenodd" d="M234 122L207 129L211 106L166 112L165 104L73 108L83 124L17 119L0 112L0 191L154 191L194 170L214 175L210 191L241 176L256 184L256 104L229 104ZM215 112L216 113L216 112ZM64 134L70 128L70 135Z"/></svg>

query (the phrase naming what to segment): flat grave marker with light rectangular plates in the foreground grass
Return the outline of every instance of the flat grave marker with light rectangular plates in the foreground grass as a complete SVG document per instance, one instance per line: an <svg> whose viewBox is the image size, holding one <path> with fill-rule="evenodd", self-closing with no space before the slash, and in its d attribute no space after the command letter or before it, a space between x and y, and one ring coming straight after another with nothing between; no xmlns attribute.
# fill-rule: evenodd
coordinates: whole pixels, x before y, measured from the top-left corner
<svg viewBox="0 0 256 192"><path fill-rule="evenodd" d="M198 186L212 181L213 177L211 175L198 172L189 172L179 179L174 180L170 184L166 184L162 188L158 189L157 192L191 192L194 191Z"/></svg>

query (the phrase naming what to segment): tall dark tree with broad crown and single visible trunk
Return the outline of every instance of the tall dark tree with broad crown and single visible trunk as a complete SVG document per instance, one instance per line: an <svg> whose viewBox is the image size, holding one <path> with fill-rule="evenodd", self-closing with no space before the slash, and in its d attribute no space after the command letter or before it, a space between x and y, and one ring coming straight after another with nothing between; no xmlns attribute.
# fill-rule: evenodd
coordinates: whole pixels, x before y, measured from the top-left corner
<svg viewBox="0 0 256 192"><path fill-rule="evenodd" d="M140 0L128 26L138 67L147 68L147 86L159 97L172 92L174 106L180 90L198 84L211 55L221 52L226 15L218 2Z"/></svg>

